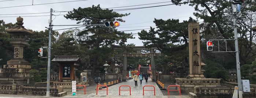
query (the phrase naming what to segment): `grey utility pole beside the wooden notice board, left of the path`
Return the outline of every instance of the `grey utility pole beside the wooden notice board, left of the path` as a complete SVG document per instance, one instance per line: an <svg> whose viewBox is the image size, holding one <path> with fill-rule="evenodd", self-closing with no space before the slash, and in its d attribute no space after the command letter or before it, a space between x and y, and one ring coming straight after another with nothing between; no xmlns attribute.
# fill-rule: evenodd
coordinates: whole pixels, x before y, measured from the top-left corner
<svg viewBox="0 0 256 98"><path fill-rule="evenodd" d="M48 64L47 64L47 88L46 96L50 96L50 68L51 68L51 33L52 33L52 8L50 10L50 20L49 20L49 42L48 42Z"/></svg>

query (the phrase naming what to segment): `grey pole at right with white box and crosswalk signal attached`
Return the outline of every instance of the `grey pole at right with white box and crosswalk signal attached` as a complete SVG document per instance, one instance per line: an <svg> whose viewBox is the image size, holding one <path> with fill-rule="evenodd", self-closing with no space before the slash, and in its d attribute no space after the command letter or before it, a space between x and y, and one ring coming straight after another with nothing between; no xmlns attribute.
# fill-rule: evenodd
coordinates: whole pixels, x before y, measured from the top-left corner
<svg viewBox="0 0 256 98"><path fill-rule="evenodd" d="M240 72L240 61L239 61L239 50L238 50L238 38L237 38L237 16L236 16L236 11L234 11L235 5L232 4L233 8L233 28L234 28L234 38L235 38L235 59L236 59L236 64L237 64L237 83L238 83L238 95L239 98L243 98L242 96L242 83L241 83L241 72Z"/></svg>

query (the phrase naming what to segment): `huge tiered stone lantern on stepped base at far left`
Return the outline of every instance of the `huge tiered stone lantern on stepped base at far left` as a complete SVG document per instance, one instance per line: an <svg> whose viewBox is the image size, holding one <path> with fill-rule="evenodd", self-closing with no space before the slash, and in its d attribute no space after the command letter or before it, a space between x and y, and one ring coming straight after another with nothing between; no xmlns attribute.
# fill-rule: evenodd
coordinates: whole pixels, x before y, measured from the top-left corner
<svg viewBox="0 0 256 98"><path fill-rule="evenodd" d="M7 33L11 34L12 38L14 38L13 41L10 41L10 44L14 46L14 57L10 61L7 61L7 64L1 69L0 73L4 73L1 81L4 81L6 78L8 80L13 80L15 83L27 83L27 77L29 77L31 66L23 59L23 48L26 45L29 45L26 41L26 35L32 34L32 31L27 30L22 26L23 18L21 17L17 18L16 24L16 27L5 30Z"/></svg>

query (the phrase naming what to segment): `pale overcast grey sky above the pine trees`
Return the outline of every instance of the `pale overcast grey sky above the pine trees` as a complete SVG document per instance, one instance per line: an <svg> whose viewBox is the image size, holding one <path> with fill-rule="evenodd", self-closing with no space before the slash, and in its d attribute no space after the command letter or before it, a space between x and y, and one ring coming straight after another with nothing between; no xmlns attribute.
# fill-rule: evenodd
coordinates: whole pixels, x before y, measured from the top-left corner
<svg viewBox="0 0 256 98"><path fill-rule="evenodd" d="M72 1L72 2L70 2ZM49 27L48 20L50 19L50 9L55 11L73 11L73 8L86 8L92 5L100 4L101 8L111 8L116 10L119 14L131 13L129 16L122 19L126 22L121 22L118 31L125 31L125 33L133 33L136 39L129 39L126 44L135 44L142 46L142 40L138 39L137 33L145 29L149 30L150 26L156 27L153 23L156 19L179 19L180 22L188 20L193 17L194 8L189 5L170 5L171 0L0 0L0 20L5 23L16 23L16 18L21 16L23 18L23 26L26 29L34 31L45 30ZM133 6L140 5L140 6ZM162 6L160 6L162 5ZM131 6L131 7L126 7ZM160 6L160 7L153 7ZM118 7L118 8L113 8ZM142 8L136 10L117 11L118 9L126 8ZM42 13L42 14L32 14ZM64 18L66 12L53 13L53 25L76 24L77 21ZM64 29L68 27L55 27L53 30ZM82 30L82 28L79 28ZM59 30L62 33L63 30Z"/></svg>

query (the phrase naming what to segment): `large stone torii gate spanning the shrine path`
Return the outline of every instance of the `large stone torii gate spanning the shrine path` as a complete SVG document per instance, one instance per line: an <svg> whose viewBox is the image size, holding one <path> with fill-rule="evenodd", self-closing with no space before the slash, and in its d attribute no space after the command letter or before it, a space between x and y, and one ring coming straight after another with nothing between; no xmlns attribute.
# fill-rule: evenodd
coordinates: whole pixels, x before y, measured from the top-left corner
<svg viewBox="0 0 256 98"><path fill-rule="evenodd" d="M122 81L126 81L126 73L127 73L127 57L148 57L151 56L151 69L152 69L152 82L156 82L156 64L155 64L155 56L164 56L163 53L155 53L154 49L147 49L145 46L118 46L112 45L114 50L123 50L123 53L115 54L115 57L123 57L123 75ZM136 54L127 53L127 49L136 50ZM150 50L150 53L141 53L141 50Z"/></svg>

